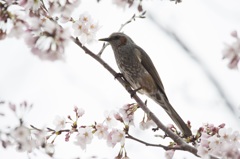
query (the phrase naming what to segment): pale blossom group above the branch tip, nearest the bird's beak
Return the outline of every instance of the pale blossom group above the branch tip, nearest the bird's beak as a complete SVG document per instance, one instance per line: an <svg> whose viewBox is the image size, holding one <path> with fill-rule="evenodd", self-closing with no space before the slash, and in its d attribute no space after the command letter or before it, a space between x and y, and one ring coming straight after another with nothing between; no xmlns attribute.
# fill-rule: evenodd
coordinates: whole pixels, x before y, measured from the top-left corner
<svg viewBox="0 0 240 159"><path fill-rule="evenodd" d="M73 25L74 35L80 38L82 44L91 43L96 39L99 30L98 23L93 21L88 13L80 15Z"/></svg>

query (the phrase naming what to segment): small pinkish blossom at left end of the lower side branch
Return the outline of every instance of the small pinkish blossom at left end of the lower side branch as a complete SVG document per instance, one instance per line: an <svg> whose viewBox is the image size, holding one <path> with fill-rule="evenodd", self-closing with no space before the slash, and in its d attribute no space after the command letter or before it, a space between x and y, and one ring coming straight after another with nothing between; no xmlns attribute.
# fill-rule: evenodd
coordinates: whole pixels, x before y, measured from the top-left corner
<svg viewBox="0 0 240 159"><path fill-rule="evenodd" d="M125 132L119 129L113 129L107 136L107 144L110 147L114 147L117 143L124 145Z"/></svg>

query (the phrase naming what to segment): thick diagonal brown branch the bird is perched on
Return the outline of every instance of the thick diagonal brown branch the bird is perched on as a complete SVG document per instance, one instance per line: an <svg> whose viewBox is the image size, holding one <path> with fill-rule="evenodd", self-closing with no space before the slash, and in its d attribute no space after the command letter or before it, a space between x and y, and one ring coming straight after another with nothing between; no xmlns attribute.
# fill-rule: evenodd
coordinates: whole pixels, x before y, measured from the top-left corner
<svg viewBox="0 0 240 159"><path fill-rule="evenodd" d="M100 63L106 70L109 71L114 77L116 77L117 72L114 71L103 59L100 58L97 54L94 54L91 50L89 50L86 46L82 45L82 43L79 41L78 38L71 37L73 42L77 44L84 52L91 56L93 59L95 59L98 63ZM122 86L129 92L129 94L132 92L131 87L128 85L126 81L124 81L122 78L118 77L117 80L122 84ZM138 105L142 108L142 110L149 115L149 117L156 123L156 125L163 130L168 136L176 142L177 145L181 147L181 150L188 151L194 155L197 156L197 149L195 147L192 147L188 145L182 138L177 136L174 132L169 130L156 116L153 112L151 112L148 107L144 104L144 102L136 95L134 94L132 98L138 103Z"/></svg>

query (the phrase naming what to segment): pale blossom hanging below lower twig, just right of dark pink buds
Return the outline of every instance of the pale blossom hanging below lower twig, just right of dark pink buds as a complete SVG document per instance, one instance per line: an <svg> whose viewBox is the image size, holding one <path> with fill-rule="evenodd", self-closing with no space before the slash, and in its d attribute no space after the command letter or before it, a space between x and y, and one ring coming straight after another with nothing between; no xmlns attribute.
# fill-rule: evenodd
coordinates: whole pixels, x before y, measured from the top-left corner
<svg viewBox="0 0 240 159"><path fill-rule="evenodd" d="M83 150L86 149L87 144L90 144L93 139L92 130L90 127L79 128L76 136L76 145L79 145Z"/></svg>

